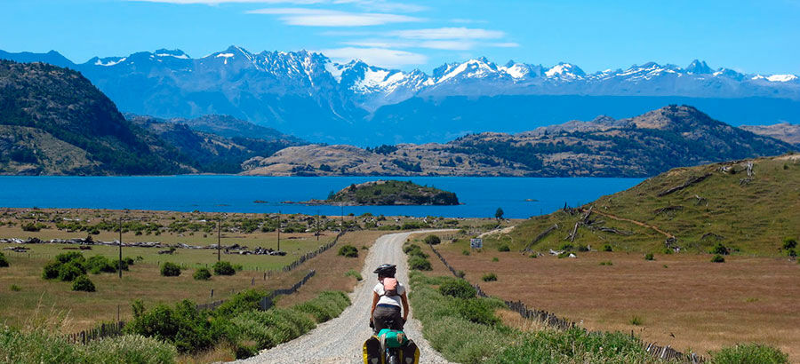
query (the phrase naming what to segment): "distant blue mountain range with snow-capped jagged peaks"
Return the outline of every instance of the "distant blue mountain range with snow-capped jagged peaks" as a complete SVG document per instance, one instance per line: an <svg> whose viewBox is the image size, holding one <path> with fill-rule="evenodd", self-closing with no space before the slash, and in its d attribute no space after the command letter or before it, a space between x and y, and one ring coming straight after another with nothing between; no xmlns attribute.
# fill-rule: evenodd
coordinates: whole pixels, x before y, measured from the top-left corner
<svg viewBox="0 0 800 364"><path fill-rule="evenodd" d="M229 114L312 140L315 132L330 136L333 127L375 122L381 107L410 99L581 95L800 100L796 75L748 75L729 68L712 69L699 60L687 67L650 62L587 74L571 63L542 66L509 61L500 65L478 58L436 67L428 75L420 70L375 67L360 60L335 63L310 51L252 53L237 46L198 59L180 50L164 49L96 57L83 64L72 63L54 51L0 51L0 58L75 68L124 112L159 117ZM308 125L297 123L320 127L309 134ZM474 130L447 132L465 131Z"/></svg>

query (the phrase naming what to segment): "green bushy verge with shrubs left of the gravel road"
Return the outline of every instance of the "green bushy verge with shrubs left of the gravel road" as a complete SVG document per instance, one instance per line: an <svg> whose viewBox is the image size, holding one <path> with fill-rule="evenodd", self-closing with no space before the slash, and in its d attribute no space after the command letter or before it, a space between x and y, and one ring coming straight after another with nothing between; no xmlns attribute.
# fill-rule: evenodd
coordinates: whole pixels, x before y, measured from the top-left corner
<svg viewBox="0 0 800 364"><path fill-rule="evenodd" d="M323 292L290 308L254 310L263 292L244 291L214 312L198 312L190 301L156 305L134 304L136 317L124 336L89 344L71 344L53 325L20 330L0 328L0 362L8 363L172 363L246 358L259 350L292 340L331 320L350 305L342 292ZM223 352L220 352L220 349ZM224 351L228 351L225 353ZM216 352L209 358L207 352ZM186 354L189 354L188 356Z"/></svg>

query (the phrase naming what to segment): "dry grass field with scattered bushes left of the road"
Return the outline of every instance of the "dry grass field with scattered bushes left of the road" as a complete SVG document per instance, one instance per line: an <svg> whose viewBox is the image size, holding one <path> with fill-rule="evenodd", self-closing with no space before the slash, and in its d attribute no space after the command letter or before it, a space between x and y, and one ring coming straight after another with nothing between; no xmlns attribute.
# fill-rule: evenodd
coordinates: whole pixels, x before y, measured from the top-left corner
<svg viewBox="0 0 800 364"><path fill-rule="evenodd" d="M347 233L341 243L350 243L360 249L362 245L371 245L374 238L382 233L384 232ZM300 245L302 248L299 252L316 249L330 241L332 234L330 235L324 236L319 242L307 237L306 243ZM300 244L299 240L287 243ZM282 249L286 249L283 244ZM49 317L55 313L67 319L65 326L61 328L63 332L76 332L92 328L100 321L116 320L117 308L122 320L130 319L133 299L142 299L147 306L156 303L172 305L182 299L190 299L196 303L212 302L225 299L243 289L289 287L308 273L308 269L316 269L318 275L308 282L308 289L302 289L300 298L284 297L287 303L306 296L308 296L306 298L314 297L322 290L352 289L355 279L344 276L344 272L349 269L359 270L364 254L357 259L338 257L336 251L339 246L338 244L319 257L309 260L291 273L269 273L266 280L264 268L283 266L292 261L296 255L290 253L275 262L270 259L280 259L280 257L223 255L223 260L243 264L245 267L256 266L260 269L258 271L245 269L234 276L215 275L211 281L195 281L192 274L195 272L194 266L205 264L211 266L216 261L214 250L178 249L174 255L164 256L157 255L156 249L152 248L124 248L125 257L142 256L145 260L132 265L130 271L123 272L121 280L116 273L89 274L97 286L97 292L84 293L72 291L71 282L45 281L41 278L42 267L48 260L61 252L76 250L63 250L67 245L62 244L26 244L26 247L31 248L32 257L28 257L27 253L14 253L8 250L4 252L11 266L0 268L0 324L21 327L36 316ZM292 249L287 250L292 251ZM84 257L94 255L116 257L117 250L116 247L93 246L92 250L83 250L82 253ZM163 277L160 275L159 266L156 265L156 259L192 267L184 269L179 277ZM247 259L260 259L260 262ZM19 290L12 289L12 285ZM212 289L214 297L211 297Z"/></svg>

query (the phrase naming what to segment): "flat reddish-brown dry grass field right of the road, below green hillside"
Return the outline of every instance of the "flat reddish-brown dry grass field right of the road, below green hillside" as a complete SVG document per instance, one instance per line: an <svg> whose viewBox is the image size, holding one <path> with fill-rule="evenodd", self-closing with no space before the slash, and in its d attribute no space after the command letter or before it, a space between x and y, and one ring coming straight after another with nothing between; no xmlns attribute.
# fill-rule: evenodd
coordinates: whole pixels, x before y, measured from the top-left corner
<svg viewBox="0 0 800 364"><path fill-rule="evenodd" d="M633 330L645 341L700 353L772 344L800 362L800 265L788 258L729 256L718 264L710 255L657 254L646 261L636 253L590 252L559 259L488 249L466 256L461 244L439 247L487 294L585 328ZM430 260L436 273L449 273L435 256ZM496 273L498 281L482 281L484 273Z"/></svg>

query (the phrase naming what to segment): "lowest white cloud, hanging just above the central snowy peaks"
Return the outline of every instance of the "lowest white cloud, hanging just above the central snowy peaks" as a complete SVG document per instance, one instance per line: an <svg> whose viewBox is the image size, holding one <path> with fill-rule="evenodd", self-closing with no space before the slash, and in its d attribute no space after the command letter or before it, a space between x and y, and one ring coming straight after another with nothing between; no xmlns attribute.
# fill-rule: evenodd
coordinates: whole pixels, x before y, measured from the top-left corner
<svg viewBox="0 0 800 364"><path fill-rule="evenodd" d="M345 47L321 50L321 52L328 58L340 63L347 63L352 59L361 59L370 65L388 68L428 63L428 57L425 55L386 48Z"/></svg>

